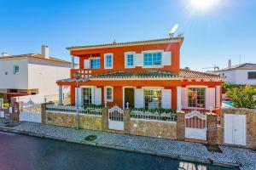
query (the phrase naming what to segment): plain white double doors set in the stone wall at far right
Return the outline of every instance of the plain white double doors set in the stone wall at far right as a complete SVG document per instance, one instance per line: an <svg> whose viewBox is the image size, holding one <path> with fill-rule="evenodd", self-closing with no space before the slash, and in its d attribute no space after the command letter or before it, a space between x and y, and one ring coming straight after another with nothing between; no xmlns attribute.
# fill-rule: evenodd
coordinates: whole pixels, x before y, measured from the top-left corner
<svg viewBox="0 0 256 170"><path fill-rule="evenodd" d="M246 145L245 115L224 115L224 143Z"/></svg>

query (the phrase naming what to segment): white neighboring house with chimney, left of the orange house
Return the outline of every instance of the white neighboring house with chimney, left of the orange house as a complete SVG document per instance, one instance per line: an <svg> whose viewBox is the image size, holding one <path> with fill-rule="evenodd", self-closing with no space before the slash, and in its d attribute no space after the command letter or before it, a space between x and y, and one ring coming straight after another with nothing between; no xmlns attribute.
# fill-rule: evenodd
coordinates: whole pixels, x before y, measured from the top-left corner
<svg viewBox="0 0 256 170"><path fill-rule="evenodd" d="M42 54L0 56L0 93L5 98L22 94L57 96L56 81L67 78L71 63L49 57L49 48L42 46ZM66 93L66 94L64 94ZM63 96L69 93L64 87Z"/></svg>

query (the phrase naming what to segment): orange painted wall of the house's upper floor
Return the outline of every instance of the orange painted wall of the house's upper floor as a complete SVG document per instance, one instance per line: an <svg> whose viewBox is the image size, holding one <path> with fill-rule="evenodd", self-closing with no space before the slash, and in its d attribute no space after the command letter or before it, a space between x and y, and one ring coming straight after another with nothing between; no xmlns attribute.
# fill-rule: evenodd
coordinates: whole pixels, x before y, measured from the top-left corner
<svg viewBox="0 0 256 170"><path fill-rule="evenodd" d="M180 55L181 42L166 42L158 44L147 44L147 45L137 45L137 46L125 46L117 48L95 48L95 49L84 49L84 50L74 50L71 51L72 55L79 56L79 68L84 68L84 59L92 57L101 57L101 68L91 69L92 72L102 73L108 71L148 71L148 70L158 70L158 71L171 71L173 73L179 72L179 55ZM145 50L164 50L172 51L172 65L164 66L163 68L155 69L145 69L141 66L136 68L127 69L125 68L125 52L136 52L142 53ZM113 69L104 70L104 54L113 54Z"/></svg>

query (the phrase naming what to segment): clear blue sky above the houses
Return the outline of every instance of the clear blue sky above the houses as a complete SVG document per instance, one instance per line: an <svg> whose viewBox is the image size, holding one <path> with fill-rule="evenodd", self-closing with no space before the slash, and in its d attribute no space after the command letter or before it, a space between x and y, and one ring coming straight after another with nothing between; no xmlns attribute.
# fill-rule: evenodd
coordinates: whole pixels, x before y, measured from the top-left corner
<svg viewBox="0 0 256 170"><path fill-rule="evenodd" d="M256 0L220 0L207 10L190 0L0 0L0 51L70 60L67 47L168 37L185 39L181 67L256 63Z"/></svg>

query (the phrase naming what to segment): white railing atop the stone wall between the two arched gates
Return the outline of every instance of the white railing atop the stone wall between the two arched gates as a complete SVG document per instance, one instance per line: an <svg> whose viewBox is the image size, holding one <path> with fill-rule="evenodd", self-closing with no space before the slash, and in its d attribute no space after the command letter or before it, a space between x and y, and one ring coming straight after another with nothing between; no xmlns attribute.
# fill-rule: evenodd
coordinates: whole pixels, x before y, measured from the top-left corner
<svg viewBox="0 0 256 170"><path fill-rule="evenodd" d="M131 118L134 119L145 119L145 120L156 120L165 122L176 122L177 113L175 111L145 111L145 110L132 110Z"/></svg>

